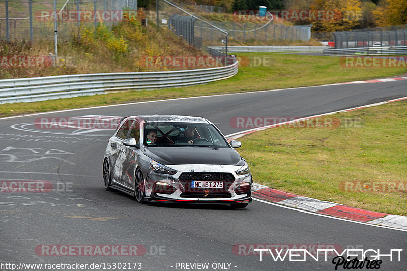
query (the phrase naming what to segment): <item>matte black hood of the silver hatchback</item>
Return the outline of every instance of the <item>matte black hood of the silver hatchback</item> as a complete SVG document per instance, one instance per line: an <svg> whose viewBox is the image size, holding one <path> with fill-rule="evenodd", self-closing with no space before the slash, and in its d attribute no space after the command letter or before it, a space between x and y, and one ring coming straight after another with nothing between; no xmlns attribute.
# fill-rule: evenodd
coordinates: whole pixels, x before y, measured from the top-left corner
<svg viewBox="0 0 407 271"><path fill-rule="evenodd" d="M244 165L240 154L231 148L147 147L144 154L163 165Z"/></svg>

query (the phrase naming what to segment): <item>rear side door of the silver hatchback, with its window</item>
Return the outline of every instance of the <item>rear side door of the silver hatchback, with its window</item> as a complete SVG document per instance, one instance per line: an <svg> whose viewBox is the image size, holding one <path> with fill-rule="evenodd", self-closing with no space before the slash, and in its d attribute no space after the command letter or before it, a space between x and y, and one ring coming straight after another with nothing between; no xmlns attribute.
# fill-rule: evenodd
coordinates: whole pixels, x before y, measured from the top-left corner
<svg viewBox="0 0 407 271"><path fill-rule="evenodd" d="M111 152L111 168L112 178L115 182L123 185L124 161L126 155L126 146L123 145L123 140L127 138L130 127L134 119L127 119L118 129L115 137L110 140Z"/></svg>

